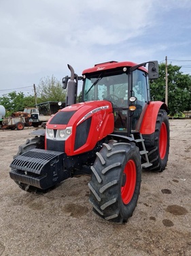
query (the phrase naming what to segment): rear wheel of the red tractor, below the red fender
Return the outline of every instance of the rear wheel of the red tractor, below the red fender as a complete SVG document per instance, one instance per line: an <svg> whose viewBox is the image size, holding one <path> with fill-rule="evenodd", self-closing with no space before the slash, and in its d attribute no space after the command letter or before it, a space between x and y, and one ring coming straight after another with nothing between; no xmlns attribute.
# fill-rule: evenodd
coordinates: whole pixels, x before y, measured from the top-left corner
<svg viewBox="0 0 191 256"><path fill-rule="evenodd" d="M148 151L149 161L152 163L149 169L150 171L164 171L167 166L169 158L169 119L167 117L167 112L164 109L158 111L158 116L156 119L155 132L150 135L144 135L145 147ZM145 159L143 159L145 162Z"/></svg>

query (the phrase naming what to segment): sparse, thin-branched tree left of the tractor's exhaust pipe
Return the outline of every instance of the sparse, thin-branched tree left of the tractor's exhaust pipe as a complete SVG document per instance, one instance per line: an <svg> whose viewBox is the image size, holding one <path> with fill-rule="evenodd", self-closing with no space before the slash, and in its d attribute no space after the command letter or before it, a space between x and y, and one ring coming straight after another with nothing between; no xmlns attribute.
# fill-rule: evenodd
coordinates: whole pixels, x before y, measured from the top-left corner
<svg viewBox="0 0 191 256"><path fill-rule="evenodd" d="M63 90L62 84L53 75L41 79L37 87L37 102L46 101L65 101L66 92Z"/></svg>

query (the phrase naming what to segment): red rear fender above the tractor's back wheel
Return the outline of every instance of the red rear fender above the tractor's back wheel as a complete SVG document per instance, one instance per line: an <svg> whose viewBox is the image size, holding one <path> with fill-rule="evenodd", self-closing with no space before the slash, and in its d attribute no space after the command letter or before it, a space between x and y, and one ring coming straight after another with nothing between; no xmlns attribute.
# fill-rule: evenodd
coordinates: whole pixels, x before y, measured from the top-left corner
<svg viewBox="0 0 191 256"><path fill-rule="evenodd" d="M155 131L156 119L159 109L165 109L168 112L168 107L164 102L155 101L147 105L145 115L141 122L141 134L152 134Z"/></svg>

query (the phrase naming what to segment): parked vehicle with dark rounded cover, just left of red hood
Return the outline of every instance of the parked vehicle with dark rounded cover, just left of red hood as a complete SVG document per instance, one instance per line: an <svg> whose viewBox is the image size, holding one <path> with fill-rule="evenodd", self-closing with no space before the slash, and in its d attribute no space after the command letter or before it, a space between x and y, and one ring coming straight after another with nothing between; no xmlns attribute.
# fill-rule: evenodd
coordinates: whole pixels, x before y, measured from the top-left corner
<svg viewBox="0 0 191 256"><path fill-rule="evenodd" d="M32 123L33 127L38 126L46 126L46 122L50 119L52 115L54 115L58 110L60 110L60 107L65 106L64 102L58 102L58 101L47 101L47 102L41 102L36 105L36 112L31 114L31 118L29 119L29 122Z"/></svg>

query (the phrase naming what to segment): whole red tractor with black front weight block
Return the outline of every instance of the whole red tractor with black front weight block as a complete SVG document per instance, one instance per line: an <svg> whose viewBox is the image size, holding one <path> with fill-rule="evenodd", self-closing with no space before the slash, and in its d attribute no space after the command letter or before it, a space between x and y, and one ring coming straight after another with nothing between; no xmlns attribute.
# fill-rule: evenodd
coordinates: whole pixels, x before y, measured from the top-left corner
<svg viewBox="0 0 191 256"><path fill-rule="evenodd" d="M145 69L148 63L148 71ZM132 216L141 169L160 172L169 156L167 105L150 100L158 62L109 61L63 79L66 107L21 145L10 177L23 190L47 191L68 177L91 173L90 203L114 223ZM76 103L77 83L82 96Z"/></svg>

